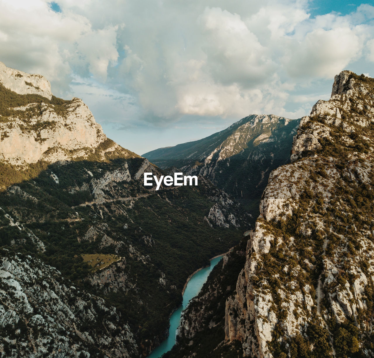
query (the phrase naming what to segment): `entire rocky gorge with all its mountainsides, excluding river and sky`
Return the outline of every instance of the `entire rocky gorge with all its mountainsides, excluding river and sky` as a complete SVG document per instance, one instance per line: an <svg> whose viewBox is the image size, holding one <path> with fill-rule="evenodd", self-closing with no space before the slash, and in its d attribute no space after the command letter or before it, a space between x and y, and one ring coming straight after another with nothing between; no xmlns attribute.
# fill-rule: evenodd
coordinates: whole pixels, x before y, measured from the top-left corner
<svg viewBox="0 0 374 358"><path fill-rule="evenodd" d="M233 246L166 358L374 357L373 89L343 71L308 116L141 157L0 63L1 358L146 357ZM198 185L144 186L180 172Z"/></svg>

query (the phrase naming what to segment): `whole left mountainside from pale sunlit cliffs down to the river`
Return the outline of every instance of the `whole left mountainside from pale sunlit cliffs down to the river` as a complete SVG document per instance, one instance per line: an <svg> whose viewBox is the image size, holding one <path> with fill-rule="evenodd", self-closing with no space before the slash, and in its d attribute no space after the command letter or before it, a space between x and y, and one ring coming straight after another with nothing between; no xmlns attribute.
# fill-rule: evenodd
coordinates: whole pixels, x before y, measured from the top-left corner
<svg viewBox="0 0 374 358"><path fill-rule="evenodd" d="M108 139L77 98L0 63L0 355L141 357L191 272L239 242L226 192L143 186L166 174Z"/></svg>

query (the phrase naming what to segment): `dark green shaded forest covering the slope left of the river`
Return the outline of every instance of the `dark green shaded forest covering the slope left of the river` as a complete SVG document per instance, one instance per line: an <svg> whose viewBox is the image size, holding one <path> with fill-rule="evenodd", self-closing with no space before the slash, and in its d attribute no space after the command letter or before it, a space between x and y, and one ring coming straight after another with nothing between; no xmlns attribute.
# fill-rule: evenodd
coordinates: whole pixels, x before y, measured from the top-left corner
<svg viewBox="0 0 374 358"><path fill-rule="evenodd" d="M180 304L181 290L191 272L237 243L240 231L210 228L205 222L204 216L214 204L208 199L215 190L209 184L149 192L140 181L120 182L103 189L109 201L85 205L93 200L88 171L98 179L123 168L126 162L133 176L143 161L73 161L45 164L27 173L9 166L8 173L15 176L1 179L16 182L21 194L1 192L0 207L25 230L9 226L0 211L0 246L36 255L56 267L75 287L103 297L117 308L122 323L129 323L138 343L145 346L149 339L165 337L169 314ZM51 172L58 176L58 185ZM23 180L22 175L33 175L33 179ZM120 200L139 195L145 196ZM85 240L90 228L94 234ZM36 252L29 229L43 241L45 252ZM105 244L104 236L108 238ZM125 275L123 286L116 290L109 284L92 286L86 278L92 274L97 257L104 262L100 267L116 257L125 258L121 269L111 265L115 275ZM160 284L162 274L165 287Z"/></svg>

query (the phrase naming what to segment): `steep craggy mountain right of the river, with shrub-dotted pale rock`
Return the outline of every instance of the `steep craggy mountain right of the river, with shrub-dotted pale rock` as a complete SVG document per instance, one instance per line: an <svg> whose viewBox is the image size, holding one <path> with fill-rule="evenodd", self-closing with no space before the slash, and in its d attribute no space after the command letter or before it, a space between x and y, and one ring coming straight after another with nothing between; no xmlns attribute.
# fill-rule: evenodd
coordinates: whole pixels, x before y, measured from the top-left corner
<svg viewBox="0 0 374 358"><path fill-rule="evenodd" d="M166 357L374 357L373 100L373 78L335 76Z"/></svg>

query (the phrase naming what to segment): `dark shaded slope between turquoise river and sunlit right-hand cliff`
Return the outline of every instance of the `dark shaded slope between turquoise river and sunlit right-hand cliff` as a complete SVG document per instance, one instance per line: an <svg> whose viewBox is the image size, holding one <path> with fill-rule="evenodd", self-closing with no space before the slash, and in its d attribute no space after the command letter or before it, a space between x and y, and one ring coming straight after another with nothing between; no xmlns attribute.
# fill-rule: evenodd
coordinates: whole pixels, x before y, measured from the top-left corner
<svg viewBox="0 0 374 358"><path fill-rule="evenodd" d="M199 294L182 312L177 345L168 358L243 357L236 341L224 342L225 302L230 300L240 267L245 263L246 242L241 241L213 268ZM209 337L209 339L207 339ZM230 351L230 352L228 352Z"/></svg>

